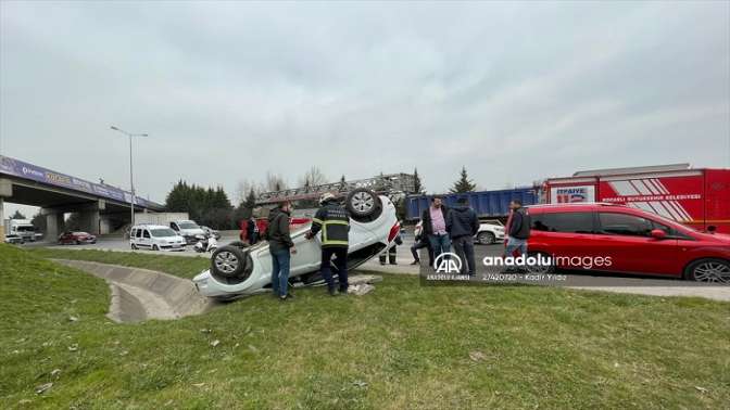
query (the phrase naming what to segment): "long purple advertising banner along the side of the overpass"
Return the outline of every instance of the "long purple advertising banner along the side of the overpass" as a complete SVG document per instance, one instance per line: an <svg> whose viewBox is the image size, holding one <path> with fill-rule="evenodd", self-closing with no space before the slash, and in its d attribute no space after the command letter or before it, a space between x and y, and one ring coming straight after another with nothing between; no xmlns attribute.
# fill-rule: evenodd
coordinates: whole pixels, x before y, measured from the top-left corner
<svg viewBox="0 0 730 410"><path fill-rule="evenodd" d="M72 177L66 174L56 172L37 165L0 155L0 174L12 175L14 177L29 179L49 185L67 188L75 191L90 193L100 197L114 200L118 202L131 203L131 193L118 188L89 182L80 178ZM137 196L135 204L143 207L161 207L162 205L143 197Z"/></svg>

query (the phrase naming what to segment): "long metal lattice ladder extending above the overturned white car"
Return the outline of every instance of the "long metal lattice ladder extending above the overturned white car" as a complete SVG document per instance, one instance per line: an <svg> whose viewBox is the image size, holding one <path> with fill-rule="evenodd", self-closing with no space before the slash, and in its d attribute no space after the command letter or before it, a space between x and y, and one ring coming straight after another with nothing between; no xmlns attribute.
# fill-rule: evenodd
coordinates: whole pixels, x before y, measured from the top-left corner
<svg viewBox="0 0 730 410"><path fill-rule="evenodd" d="M392 194L397 192L410 194L415 193L414 183L415 177L413 174L381 174L377 177L366 179L323 183L320 185L292 188L281 191L262 192L259 197L256 197L256 205L274 204L282 201L293 202L315 200L325 192L331 192L335 195L344 195L345 193L357 188L366 188L377 193L385 194Z"/></svg>

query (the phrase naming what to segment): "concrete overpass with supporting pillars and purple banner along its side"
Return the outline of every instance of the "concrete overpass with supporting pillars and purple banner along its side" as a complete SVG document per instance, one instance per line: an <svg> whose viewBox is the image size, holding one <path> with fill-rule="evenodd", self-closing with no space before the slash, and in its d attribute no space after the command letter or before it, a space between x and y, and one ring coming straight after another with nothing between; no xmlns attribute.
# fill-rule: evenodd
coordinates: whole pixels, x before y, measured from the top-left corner
<svg viewBox="0 0 730 410"><path fill-rule="evenodd" d="M0 240L4 239L4 202L41 207L46 238L53 240L63 229L66 213L78 213L80 229L93 234L109 233L114 225L128 223L131 194L0 155ZM136 212L162 209L161 204L135 198Z"/></svg>

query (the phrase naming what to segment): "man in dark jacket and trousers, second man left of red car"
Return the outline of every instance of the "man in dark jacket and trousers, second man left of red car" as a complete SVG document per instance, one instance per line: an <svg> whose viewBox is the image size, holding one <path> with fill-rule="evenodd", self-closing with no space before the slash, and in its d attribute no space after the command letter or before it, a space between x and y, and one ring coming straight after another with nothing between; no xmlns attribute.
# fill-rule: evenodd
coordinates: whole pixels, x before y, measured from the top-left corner
<svg viewBox="0 0 730 410"><path fill-rule="evenodd" d="M476 274L474 260L474 235L479 232L479 218L469 206L468 200L463 196L456 201L456 206L449 210L446 216L446 231L451 235L456 256L462 260L462 274Z"/></svg>

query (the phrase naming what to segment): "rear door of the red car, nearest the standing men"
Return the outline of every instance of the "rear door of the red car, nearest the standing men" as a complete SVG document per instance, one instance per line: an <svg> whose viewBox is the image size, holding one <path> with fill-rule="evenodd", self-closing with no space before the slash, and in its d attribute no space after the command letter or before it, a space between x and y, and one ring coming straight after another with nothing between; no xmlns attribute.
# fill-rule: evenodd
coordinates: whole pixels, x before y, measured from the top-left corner
<svg viewBox="0 0 730 410"><path fill-rule="evenodd" d="M530 214L532 220L528 252L541 252L553 257L559 268L592 269L576 264L597 255L593 246L595 217L593 212L553 212Z"/></svg>

